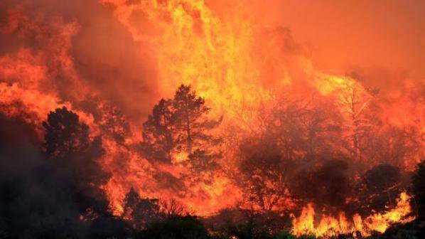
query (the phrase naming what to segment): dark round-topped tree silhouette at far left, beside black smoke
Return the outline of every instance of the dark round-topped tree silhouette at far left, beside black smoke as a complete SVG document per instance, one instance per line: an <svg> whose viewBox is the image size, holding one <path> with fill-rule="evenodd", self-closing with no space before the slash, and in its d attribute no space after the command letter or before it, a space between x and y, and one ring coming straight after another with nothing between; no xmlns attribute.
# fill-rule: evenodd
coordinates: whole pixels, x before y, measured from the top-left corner
<svg viewBox="0 0 425 239"><path fill-rule="evenodd" d="M109 174L102 170L102 138L90 140L89 127L66 107L48 114L43 148L58 176L63 177L80 210L88 214L107 213L107 199L100 188Z"/></svg>

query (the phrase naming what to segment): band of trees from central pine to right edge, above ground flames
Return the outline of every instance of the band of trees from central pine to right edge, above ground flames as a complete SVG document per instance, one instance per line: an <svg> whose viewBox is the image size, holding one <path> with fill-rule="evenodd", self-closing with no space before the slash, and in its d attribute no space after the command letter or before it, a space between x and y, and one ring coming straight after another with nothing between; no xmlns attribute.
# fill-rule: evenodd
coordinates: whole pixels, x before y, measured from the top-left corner
<svg viewBox="0 0 425 239"><path fill-rule="evenodd" d="M217 132L222 118L209 115L205 100L181 85L144 122L141 154L188 169L170 176L175 185L225 174L242 190L243 208L267 212L285 210L288 202L314 203L319 211L367 216L394 205L409 188L405 163L424 153L419 129L384 122L373 94L353 83L336 100L280 99L260 109L251 131L226 125Z"/></svg>

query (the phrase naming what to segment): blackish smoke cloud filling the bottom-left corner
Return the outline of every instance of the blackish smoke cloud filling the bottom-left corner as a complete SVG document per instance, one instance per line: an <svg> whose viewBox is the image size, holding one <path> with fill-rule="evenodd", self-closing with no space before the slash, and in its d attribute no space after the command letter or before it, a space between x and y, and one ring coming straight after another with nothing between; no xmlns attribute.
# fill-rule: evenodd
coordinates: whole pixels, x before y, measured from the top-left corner
<svg viewBox="0 0 425 239"><path fill-rule="evenodd" d="M129 225L107 212L82 220L87 198L75 197L72 181L81 175L46 158L35 125L2 114L0 125L0 238L127 238Z"/></svg>

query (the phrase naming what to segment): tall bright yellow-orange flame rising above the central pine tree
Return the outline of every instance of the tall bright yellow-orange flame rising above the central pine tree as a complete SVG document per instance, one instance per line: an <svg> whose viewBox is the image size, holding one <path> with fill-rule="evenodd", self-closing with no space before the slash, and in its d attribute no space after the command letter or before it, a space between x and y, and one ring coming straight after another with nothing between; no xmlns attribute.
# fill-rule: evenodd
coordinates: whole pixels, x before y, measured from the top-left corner
<svg viewBox="0 0 425 239"><path fill-rule="evenodd" d="M270 90L289 83L284 72L271 83L259 78L264 63L253 54L264 52L254 43L256 29L237 11L222 20L199 0L102 3L115 6L115 16L135 41L154 49L161 69L161 95L172 95L181 83L190 84L208 100L215 115L246 119L243 110L257 109L259 102L271 100ZM144 18L134 23L134 12Z"/></svg>

